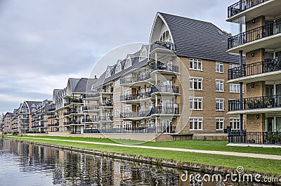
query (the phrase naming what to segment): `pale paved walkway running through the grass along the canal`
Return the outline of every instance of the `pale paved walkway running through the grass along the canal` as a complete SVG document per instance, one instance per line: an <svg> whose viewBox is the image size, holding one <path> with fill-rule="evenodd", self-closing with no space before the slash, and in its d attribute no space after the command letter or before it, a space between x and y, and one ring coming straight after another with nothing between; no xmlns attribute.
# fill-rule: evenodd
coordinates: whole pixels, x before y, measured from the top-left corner
<svg viewBox="0 0 281 186"><path fill-rule="evenodd" d="M214 150L190 150L190 149L181 149L181 148L172 148L172 147L152 147L152 146L141 146L141 145L124 145L124 144L115 144L107 142L87 142L80 140L59 140L59 139L50 139L50 138L29 138L29 137L14 137L13 138L27 138L27 139L37 139L37 140L53 140L53 141L65 141L65 142L81 142L94 145L110 145L117 147L129 147L129 148L139 148L139 149L150 149L150 150L171 150L178 152L196 152L202 154L219 154L235 157L251 157L251 158L261 158L261 159L276 159L281 160L281 155L270 155L270 154L254 154L254 153L244 153L244 152L224 152L224 151L214 151ZM281 152L280 152L281 154Z"/></svg>

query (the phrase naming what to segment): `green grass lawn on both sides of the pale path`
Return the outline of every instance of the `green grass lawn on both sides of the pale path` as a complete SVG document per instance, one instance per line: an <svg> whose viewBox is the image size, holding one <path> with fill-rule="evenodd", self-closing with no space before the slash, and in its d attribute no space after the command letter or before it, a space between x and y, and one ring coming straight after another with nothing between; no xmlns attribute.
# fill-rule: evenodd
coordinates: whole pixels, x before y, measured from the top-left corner
<svg viewBox="0 0 281 186"><path fill-rule="evenodd" d="M11 136L13 137L13 136ZM30 137L30 136L28 136ZM37 138L37 137L36 137ZM101 139L101 138L73 138L73 137L41 137L41 138L55 138L63 140L86 140L94 142L112 142L110 139ZM19 139L19 138L17 138ZM243 166L245 170L257 171L260 173L272 173L281 175L281 161L271 160L271 159L254 159L248 157L232 157L225 155L216 155L216 154L200 154L193 152L174 152L169 150L148 150L148 149L138 149L138 148L128 148L128 147L115 147L111 145L93 145L93 144L84 144L81 142L65 142L65 141L52 141L44 139L24 139L22 140L32 140L36 142L45 142L54 145L65 145L70 147L81 147L90 150L103 150L108 152L120 152L126 154L137 154L147 157L157 157L159 159L174 159L177 161L187 161L198 164L207 164L213 166L224 166L230 168L237 168L237 166ZM204 145L204 143L207 143ZM237 147L226 147L226 142L217 142L217 141L178 141L178 142L147 142L143 145L157 146L157 147L185 147L192 149L200 150L224 150L224 151L235 151ZM244 152L248 152L248 147L239 147L237 149L241 150L245 148ZM252 148L252 147L251 147ZM251 149L250 148L250 149ZM254 149L257 147L254 147ZM257 148L259 149L259 148ZM260 149L255 150L256 153L259 151L272 151L273 154L277 154L277 150L280 153L280 149ZM268 153L264 153L268 154Z"/></svg>

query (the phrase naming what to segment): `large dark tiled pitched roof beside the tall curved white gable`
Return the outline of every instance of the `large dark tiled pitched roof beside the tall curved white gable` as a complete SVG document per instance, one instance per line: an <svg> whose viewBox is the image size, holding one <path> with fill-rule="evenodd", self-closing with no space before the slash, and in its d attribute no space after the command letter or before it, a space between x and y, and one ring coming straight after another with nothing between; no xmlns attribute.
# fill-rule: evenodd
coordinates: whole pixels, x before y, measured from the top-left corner
<svg viewBox="0 0 281 186"><path fill-rule="evenodd" d="M226 53L228 35L211 22L159 13L171 31L176 55L222 62L239 62L239 56Z"/></svg>

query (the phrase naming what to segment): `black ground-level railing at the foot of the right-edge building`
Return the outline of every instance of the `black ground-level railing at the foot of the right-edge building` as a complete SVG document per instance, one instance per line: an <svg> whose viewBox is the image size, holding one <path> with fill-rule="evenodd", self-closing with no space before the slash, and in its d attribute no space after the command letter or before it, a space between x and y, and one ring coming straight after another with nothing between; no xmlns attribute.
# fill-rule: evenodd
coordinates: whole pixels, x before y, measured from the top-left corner
<svg viewBox="0 0 281 186"><path fill-rule="evenodd" d="M228 133L228 142L281 145L281 133L243 132L241 138L240 132L231 132Z"/></svg>

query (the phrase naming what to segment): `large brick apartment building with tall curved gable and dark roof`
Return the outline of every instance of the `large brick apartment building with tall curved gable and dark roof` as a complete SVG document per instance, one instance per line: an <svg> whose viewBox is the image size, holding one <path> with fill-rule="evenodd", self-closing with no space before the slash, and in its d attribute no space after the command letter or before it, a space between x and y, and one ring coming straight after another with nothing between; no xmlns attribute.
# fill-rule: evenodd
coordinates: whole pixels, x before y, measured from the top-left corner
<svg viewBox="0 0 281 186"><path fill-rule="evenodd" d="M228 35L210 22L157 13L148 46L116 59L98 78L85 133L197 134L237 129L226 84L239 55L226 53Z"/></svg>

